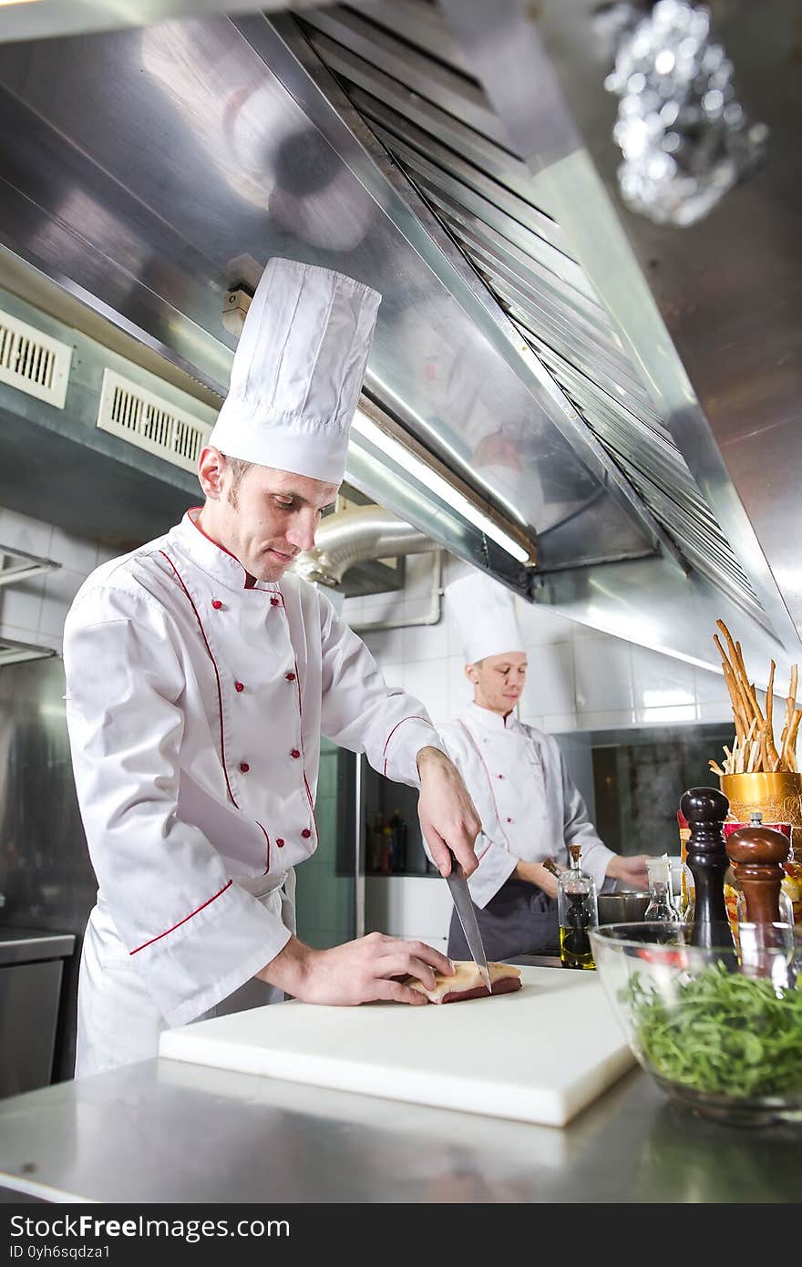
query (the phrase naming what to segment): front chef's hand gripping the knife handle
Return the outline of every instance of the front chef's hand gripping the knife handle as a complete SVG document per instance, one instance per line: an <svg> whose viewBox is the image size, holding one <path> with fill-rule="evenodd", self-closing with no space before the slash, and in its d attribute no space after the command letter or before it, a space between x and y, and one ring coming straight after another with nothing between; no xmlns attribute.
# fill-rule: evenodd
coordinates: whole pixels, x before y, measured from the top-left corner
<svg viewBox="0 0 802 1267"><path fill-rule="evenodd" d="M451 874L451 854L462 864L466 875L479 863L474 853L481 821L462 775L454 761L438 748L422 748L418 753L421 797L418 817L435 865L441 875Z"/></svg>

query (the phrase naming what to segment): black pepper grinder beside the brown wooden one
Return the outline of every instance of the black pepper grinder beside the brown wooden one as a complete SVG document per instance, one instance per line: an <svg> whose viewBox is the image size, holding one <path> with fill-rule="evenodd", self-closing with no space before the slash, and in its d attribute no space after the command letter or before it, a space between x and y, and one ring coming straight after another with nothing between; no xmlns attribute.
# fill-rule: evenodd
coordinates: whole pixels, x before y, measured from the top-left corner
<svg viewBox="0 0 802 1267"><path fill-rule="evenodd" d="M691 827L685 860L696 886L691 945L732 946L723 898L730 859L722 830L730 802L718 788L691 788L683 793L679 807Z"/></svg>

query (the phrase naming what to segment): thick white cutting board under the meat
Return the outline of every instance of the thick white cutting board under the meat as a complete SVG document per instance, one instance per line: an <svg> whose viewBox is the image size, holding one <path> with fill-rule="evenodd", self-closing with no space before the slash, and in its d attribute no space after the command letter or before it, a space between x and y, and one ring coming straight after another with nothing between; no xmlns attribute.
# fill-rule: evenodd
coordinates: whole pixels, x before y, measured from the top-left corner
<svg viewBox="0 0 802 1267"><path fill-rule="evenodd" d="M291 1000L165 1030L160 1055L337 1091L564 1126L635 1063L594 972L409 1007Z"/></svg>

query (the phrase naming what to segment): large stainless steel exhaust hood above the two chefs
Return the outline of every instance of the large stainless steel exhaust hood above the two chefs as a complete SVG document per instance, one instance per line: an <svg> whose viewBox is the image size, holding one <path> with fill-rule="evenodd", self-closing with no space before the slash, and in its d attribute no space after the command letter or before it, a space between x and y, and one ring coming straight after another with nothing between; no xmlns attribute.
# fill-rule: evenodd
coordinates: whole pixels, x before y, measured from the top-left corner
<svg viewBox="0 0 802 1267"><path fill-rule="evenodd" d="M759 239L779 275L789 247L767 246L767 226L798 157L789 137L701 236L633 227L589 124L613 110L590 66L593 8L546 3L536 27L517 0L376 0L6 44L0 241L220 395L226 291L270 255L369 281L384 299L366 411L527 540L530 565L359 437L356 487L533 602L710 666L722 617L758 677L769 658L782 673L799 655L794 533L742 438L750 383L770 375L754 378L744 329L726 381L721 366L691 374L708 333L692 295L694 250L715 246L739 299L760 300L749 332L775 317L791 347L787 288L772 307L737 265ZM787 29L775 20L753 52L750 20L730 6L725 39L779 150L783 94L798 92ZM777 73L750 77L760 56ZM786 522L794 374L786 360L756 419L764 437L782 419ZM739 409L736 441L717 422Z"/></svg>

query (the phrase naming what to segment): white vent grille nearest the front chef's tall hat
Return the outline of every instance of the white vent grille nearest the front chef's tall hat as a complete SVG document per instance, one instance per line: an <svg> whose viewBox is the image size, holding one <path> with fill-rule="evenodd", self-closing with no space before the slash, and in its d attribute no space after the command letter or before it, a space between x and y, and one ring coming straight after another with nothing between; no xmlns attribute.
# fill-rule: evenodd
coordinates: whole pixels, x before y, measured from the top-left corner
<svg viewBox="0 0 802 1267"><path fill-rule="evenodd" d="M193 473L212 435L212 427L200 418L114 370L103 371L98 426Z"/></svg>

